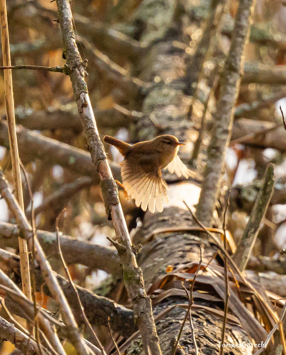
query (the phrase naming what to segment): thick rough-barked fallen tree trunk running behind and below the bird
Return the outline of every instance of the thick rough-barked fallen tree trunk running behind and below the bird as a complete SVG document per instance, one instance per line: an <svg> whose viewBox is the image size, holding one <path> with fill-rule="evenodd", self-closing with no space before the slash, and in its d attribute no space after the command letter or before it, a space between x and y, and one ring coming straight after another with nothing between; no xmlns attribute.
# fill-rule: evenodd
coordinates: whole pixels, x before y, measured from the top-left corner
<svg viewBox="0 0 286 355"><path fill-rule="evenodd" d="M181 11L182 8L173 1L143 1L136 10L135 18L133 17L133 25L135 28L137 26L136 36L139 36L141 42L150 45L134 71L139 72L141 80L152 83L144 95L141 107L135 107L136 110L143 113L143 117L136 125L136 141L148 140L160 134L172 134L180 141L191 142L192 122L188 116L191 99L185 94L188 91L186 83L186 61L188 60L186 56L188 54L185 49L176 47L174 41L180 42L186 38L188 35L187 26L194 23L196 18L194 15L194 18L190 18L190 23L183 23L180 21L182 16L179 16ZM138 24L142 26L138 27ZM138 35L140 29L142 32ZM181 158L185 158L185 162L188 161L190 159L188 146L185 151L182 149L181 151ZM151 294L157 288L169 289L169 293L166 293L168 297L162 296L162 300L157 297L159 292L163 292L162 289L155 292L153 307L157 316L169 306L187 304L185 291L180 286L181 281L176 280L176 277L170 276L164 287L160 285L159 280L167 275L166 268L171 266L170 269L176 269L181 266L184 269L186 264L193 263L190 273L194 274L200 260L200 248L204 263L208 263L216 252L216 247L211 243L207 234L188 231L194 227L194 222L190 213L186 211L183 200L193 206L197 202L195 195L198 187L190 182L180 183L177 178L169 174L165 174L164 177L169 184L169 196L174 195L176 198L170 198L170 205L164 208L162 213L150 214L146 212L142 226L133 238L134 245L143 245L138 255L138 263L143 271L146 291L149 289ZM184 197L180 198L182 196L180 191L183 191ZM173 233L168 231L168 228L174 227L185 227L186 231ZM166 231L156 233L158 228L166 229ZM219 266L216 258L211 262L211 265ZM185 282L188 288L187 284ZM203 279L200 284L195 283L195 305L191 309L191 317L200 353L217 354L220 351L225 291L222 291L221 297L215 291L207 292L207 295L199 293L200 290L206 289L209 290ZM215 294L216 296L214 296ZM220 310L219 315L213 312L215 309ZM174 307L156 323L163 354L172 353L185 314L185 307ZM225 342L230 344L251 343L249 336L251 329L249 327L247 329L245 326L246 324L242 326L240 321L228 319ZM260 334L263 333L265 336L266 333L263 332L258 322L256 326L260 329ZM176 349L177 354L194 353L191 334L190 323L187 321ZM258 342L259 339L256 341ZM140 339L135 340L134 343L129 351L136 354L141 353L143 350ZM232 354L251 354L252 349L232 348L231 352Z"/></svg>

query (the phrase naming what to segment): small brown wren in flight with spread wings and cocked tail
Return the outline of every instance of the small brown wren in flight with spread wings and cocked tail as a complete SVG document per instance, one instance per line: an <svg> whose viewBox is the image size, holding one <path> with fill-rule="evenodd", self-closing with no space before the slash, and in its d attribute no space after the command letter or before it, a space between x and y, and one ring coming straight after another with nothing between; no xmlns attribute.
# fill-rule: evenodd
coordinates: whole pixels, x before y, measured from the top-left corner
<svg viewBox="0 0 286 355"><path fill-rule="evenodd" d="M105 136L103 142L116 147L123 155L123 185L128 196L135 199L137 207L141 204L143 211L148 207L152 213L155 209L162 212L162 201L168 203L168 185L162 179L161 169L168 169L171 174L183 175L186 179L195 177L178 157L179 146L185 144L174 136L163 135L133 146L110 136Z"/></svg>

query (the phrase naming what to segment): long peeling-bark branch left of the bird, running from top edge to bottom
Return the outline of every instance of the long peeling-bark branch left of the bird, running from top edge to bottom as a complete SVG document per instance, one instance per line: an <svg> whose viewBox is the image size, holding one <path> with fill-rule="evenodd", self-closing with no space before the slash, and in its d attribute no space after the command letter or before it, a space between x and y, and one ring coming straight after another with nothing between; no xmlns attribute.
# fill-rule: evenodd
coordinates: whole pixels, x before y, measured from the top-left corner
<svg viewBox="0 0 286 355"><path fill-rule="evenodd" d="M75 42L72 12L69 1L56 0L58 20L60 23L63 54L70 68L70 79L75 100L78 105L80 120L82 121L92 162L95 164L101 179L101 191L105 201L108 217L112 218L117 240L120 243L120 259L123 266L124 283L132 301L135 317L138 317L138 328L142 336L145 353L161 355L159 338L156 332L150 298L147 297L141 269L137 266L135 253L127 230L122 207L118 199L118 191L113 180L110 166L99 137L94 113L91 107L88 90L84 80L85 63ZM124 250L124 252L122 252Z"/></svg>

